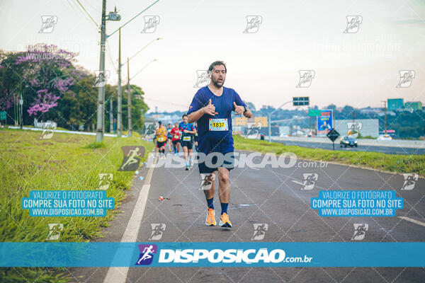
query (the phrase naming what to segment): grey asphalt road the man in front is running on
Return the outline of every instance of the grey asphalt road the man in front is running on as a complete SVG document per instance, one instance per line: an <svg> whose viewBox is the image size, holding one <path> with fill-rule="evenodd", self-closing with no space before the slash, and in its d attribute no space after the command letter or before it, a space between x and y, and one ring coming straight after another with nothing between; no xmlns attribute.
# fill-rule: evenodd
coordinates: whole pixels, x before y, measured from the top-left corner
<svg viewBox="0 0 425 283"><path fill-rule="evenodd" d="M363 241L424 241L425 226L399 218L425 222L425 180L419 178L414 190L400 190L402 175L328 164L324 168L234 168L231 171L229 216L232 229L205 226L205 197L198 190L200 176L195 166L183 168L142 168L145 180L136 179L117 219L104 229L106 238L121 241L130 216L141 195L147 195L137 242L152 242L151 224L166 224L159 242L252 241L253 224L268 224L261 241L351 242L353 224L369 229ZM317 173L313 190L300 190L303 173ZM146 178L147 177L147 178ZM145 182L149 182L150 187ZM145 186L144 186L145 185ZM404 209L396 217L320 217L310 209L310 198L318 190L395 190L404 198ZM149 193L147 193L149 190ZM147 193L147 194L146 194ZM169 198L159 202L158 197ZM220 202L215 195L216 218ZM218 222L218 221L217 221ZM420 222L419 222L420 223ZM402 252L402 251L400 251ZM73 282L104 282L108 267L68 268ZM124 274L123 270L115 270ZM124 272L124 273L123 273ZM123 282L423 282L425 268L387 267L130 267ZM117 282L118 283L118 282Z"/></svg>

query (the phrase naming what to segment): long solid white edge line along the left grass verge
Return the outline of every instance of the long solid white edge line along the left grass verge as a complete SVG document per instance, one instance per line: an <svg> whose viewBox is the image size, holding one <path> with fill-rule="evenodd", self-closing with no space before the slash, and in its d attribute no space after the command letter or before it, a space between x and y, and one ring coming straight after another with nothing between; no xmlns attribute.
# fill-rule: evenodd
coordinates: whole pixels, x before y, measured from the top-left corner
<svg viewBox="0 0 425 283"><path fill-rule="evenodd" d="M137 233L139 233L140 224L142 223L143 219L143 213L145 212L147 195L149 194L150 181L152 179L153 172L154 167L152 166L147 172L145 183L142 187L142 190L140 190L139 197L137 197L136 205L132 211L127 227L125 228L123 238L121 238L121 242L135 243L137 240ZM116 253L115 256L118 256L118 253ZM128 269L129 267L109 267L108 273L106 274L103 283L125 283L127 279Z"/></svg>

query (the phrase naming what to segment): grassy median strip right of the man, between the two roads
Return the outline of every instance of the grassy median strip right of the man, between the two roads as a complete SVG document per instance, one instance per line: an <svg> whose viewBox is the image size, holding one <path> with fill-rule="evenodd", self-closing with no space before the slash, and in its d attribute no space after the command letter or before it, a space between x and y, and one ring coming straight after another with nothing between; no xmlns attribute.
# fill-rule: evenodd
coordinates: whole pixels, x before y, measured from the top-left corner
<svg viewBox="0 0 425 283"><path fill-rule="evenodd" d="M286 146L277 142L261 141L258 139L244 139L239 135L234 135L233 139L235 149L238 150L259 151L261 153L274 152L276 154L293 152L297 155L297 158L316 161L334 161L392 173L418 173L422 177L425 176L424 155L396 155L370 151L308 149L305 147Z"/></svg>

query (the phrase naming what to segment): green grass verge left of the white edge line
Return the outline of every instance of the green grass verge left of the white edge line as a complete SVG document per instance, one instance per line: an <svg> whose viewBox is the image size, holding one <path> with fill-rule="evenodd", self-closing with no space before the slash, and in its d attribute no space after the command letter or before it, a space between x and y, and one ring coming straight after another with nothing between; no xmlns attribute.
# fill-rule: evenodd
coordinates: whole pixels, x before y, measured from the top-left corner
<svg viewBox="0 0 425 283"><path fill-rule="evenodd" d="M105 137L55 133L39 139L40 132L0 130L0 241L46 242L49 223L64 224L61 242L86 242L103 237L102 229L118 213L133 172L118 172L123 161L121 146L145 146L145 158L154 144L137 137ZM144 158L144 160L145 160ZM115 198L115 209L105 217L32 217L21 208L30 190L96 190L98 173L113 173L107 190ZM51 241L50 241L51 242ZM67 282L63 268L0 268L1 282ZM64 272L68 274L68 272Z"/></svg>

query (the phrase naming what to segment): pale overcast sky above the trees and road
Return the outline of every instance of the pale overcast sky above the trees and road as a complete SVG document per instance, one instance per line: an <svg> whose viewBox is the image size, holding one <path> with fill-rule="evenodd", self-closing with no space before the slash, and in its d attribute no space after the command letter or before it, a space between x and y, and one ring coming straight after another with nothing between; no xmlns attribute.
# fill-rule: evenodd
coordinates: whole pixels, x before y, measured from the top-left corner
<svg viewBox="0 0 425 283"><path fill-rule="evenodd" d="M102 1L79 1L100 23ZM108 0L107 13L117 6L121 21L108 21L107 34L154 1ZM1 0L0 13L1 49L55 44L79 52L77 64L98 69L100 33L77 0ZM57 16L52 33L39 33L41 16ZM144 16L159 16L154 33L141 33ZM256 33L243 33L246 16L260 16ZM363 18L356 33L344 33L346 16ZM293 96L310 96L319 107L380 107L386 98L425 103L425 1L160 0L123 28L123 59L157 37L163 39L130 61L131 77L158 60L132 79L151 110L187 110L196 71L217 59L227 64L225 86L256 108L278 107ZM116 84L118 33L107 41L106 69ZM295 87L299 70L314 70L310 87ZM399 70L415 71L410 87L395 87Z"/></svg>

